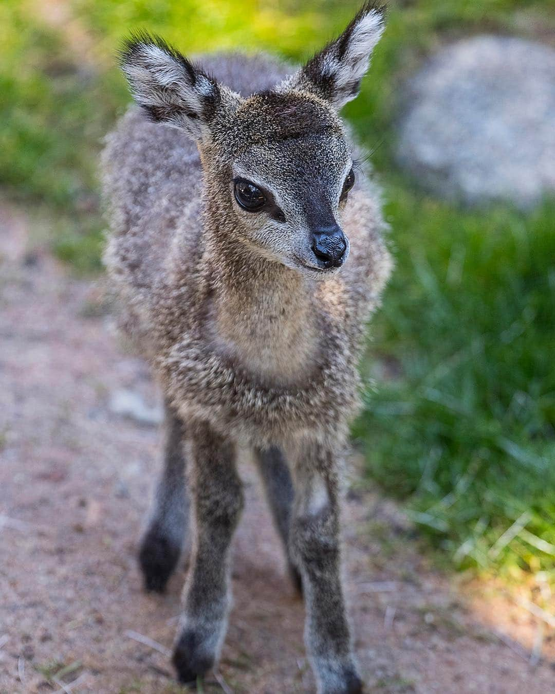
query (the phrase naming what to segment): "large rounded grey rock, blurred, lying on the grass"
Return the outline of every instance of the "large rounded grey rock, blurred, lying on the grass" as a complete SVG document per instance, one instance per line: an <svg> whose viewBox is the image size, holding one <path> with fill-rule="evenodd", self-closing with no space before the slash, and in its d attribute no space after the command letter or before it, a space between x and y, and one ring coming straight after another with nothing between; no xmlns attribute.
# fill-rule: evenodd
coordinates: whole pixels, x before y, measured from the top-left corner
<svg viewBox="0 0 555 694"><path fill-rule="evenodd" d="M530 208L555 192L555 51L510 37L448 46L409 84L398 160L432 192Z"/></svg>

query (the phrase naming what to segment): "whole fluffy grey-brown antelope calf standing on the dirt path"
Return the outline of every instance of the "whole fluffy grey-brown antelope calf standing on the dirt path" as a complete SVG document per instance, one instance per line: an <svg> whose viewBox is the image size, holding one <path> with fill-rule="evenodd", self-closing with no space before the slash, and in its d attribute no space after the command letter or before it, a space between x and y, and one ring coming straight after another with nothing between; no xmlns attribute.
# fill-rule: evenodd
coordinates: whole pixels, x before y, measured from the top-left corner
<svg viewBox="0 0 555 694"><path fill-rule="evenodd" d="M391 261L379 195L357 180L339 109L383 28L382 8L366 4L296 71L266 56L190 62L146 34L121 53L140 108L103 155L106 264L166 402L164 471L139 555L146 589L163 591L189 510L194 520L173 650L184 683L214 666L225 637L241 444L302 586L318 692L361 691L339 467L365 323Z"/></svg>

